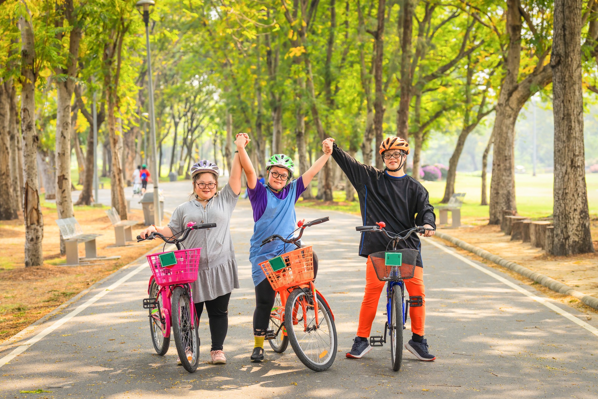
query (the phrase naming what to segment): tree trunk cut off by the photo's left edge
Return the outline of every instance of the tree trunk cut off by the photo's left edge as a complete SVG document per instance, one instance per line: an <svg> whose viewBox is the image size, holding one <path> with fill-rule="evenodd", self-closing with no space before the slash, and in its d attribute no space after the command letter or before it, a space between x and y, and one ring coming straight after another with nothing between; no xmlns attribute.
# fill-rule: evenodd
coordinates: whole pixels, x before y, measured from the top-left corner
<svg viewBox="0 0 598 399"><path fill-rule="evenodd" d="M12 153L16 148L10 147L10 92L12 81L0 78L0 220L14 220L17 218L15 207L15 193L13 187L13 173L11 172Z"/></svg>

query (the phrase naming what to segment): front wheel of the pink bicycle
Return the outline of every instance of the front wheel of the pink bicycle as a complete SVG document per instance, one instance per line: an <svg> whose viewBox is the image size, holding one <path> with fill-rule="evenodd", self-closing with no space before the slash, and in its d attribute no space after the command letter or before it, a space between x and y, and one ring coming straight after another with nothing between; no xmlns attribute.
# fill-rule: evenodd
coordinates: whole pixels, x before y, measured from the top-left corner
<svg viewBox="0 0 598 399"><path fill-rule="evenodd" d="M172 333L175 336L176 352L181 358L182 366L190 373L194 373L199 364L197 316L193 316L195 327L191 329L189 294L184 288L176 287L172 291Z"/></svg>

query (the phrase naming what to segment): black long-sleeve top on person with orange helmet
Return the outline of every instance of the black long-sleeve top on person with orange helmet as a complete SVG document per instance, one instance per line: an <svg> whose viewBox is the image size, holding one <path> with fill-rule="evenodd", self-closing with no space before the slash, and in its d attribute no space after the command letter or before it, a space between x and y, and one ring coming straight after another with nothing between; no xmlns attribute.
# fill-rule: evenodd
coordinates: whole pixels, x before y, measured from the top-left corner
<svg viewBox="0 0 598 399"><path fill-rule="evenodd" d="M382 221L386 223L386 230L393 233L424 224L436 228L434 206L428 200L428 190L419 181L408 175L390 176L385 170L364 165L335 143L332 157L357 191L364 226ZM386 251L388 242L382 233L361 233L359 255L367 258L373 252ZM399 242L397 248L419 251L420 245L419 236L411 234L405 242Z"/></svg>

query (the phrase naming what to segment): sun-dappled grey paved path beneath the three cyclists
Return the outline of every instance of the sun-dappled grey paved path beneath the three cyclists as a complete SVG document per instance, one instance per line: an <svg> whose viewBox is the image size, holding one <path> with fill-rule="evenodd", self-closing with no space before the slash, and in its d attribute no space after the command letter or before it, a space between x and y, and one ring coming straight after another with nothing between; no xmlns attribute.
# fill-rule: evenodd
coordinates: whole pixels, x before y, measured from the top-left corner
<svg viewBox="0 0 598 399"><path fill-rule="evenodd" d="M188 184L180 182L163 188L170 210L188 194ZM196 373L176 366L174 343L166 356L155 354L147 310L141 306L151 272L147 263L139 263L115 273L16 345L2 348L0 398L598 399L596 317L587 320L495 269L455 256L439 240L422 244L426 337L437 360L418 361L405 351L403 367L395 373L388 346L347 360L344 353L355 336L364 292L365 262L357 255L354 229L360 219L309 208L298 208L297 214L308 220L330 217L304 236L318 252L317 285L334 311L340 341L328 371L307 369L290 346L279 355L266 345L268 361L249 362L253 222L248 201L240 200L232 232L241 288L230 301L224 345L228 364L209 363L206 316L200 324L202 363ZM382 308L381 300L373 334L383 331ZM405 339L409 336L405 331ZM50 392L20 393L36 389Z"/></svg>

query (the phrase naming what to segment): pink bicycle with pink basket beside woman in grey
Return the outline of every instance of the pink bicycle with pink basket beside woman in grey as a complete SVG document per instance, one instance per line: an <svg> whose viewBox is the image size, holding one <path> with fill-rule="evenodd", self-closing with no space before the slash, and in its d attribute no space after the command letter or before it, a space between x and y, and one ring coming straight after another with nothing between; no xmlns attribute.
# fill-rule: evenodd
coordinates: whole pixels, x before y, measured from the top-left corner
<svg viewBox="0 0 598 399"><path fill-rule="evenodd" d="M199 320L195 313L191 283L197 280L202 248L181 249L181 243L191 230L212 227L216 227L216 224L188 223L180 239L164 237L157 232L148 234L145 239L137 236L137 242L158 237L165 243L176 245L176 251L147 255L152 276L148 284L149 298L144 299L144 309L149 309L149 331L156 353L163 356L168 352L172 326L176 351L182 366L189 373L194 373L199 364Z"/></svg>

